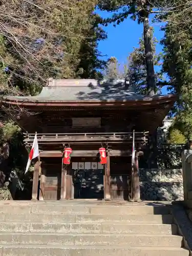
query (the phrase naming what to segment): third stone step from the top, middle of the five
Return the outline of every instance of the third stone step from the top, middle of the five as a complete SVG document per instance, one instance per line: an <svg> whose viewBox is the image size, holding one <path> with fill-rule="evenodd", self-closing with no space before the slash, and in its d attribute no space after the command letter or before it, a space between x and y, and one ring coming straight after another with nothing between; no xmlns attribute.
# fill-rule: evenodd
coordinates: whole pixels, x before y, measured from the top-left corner
<svg viewBox="0 0 192 256"><path fill-rule="evenodd" d="M9 223L0 222L2 232L177 234L175 224L127 223Z"/></svg>

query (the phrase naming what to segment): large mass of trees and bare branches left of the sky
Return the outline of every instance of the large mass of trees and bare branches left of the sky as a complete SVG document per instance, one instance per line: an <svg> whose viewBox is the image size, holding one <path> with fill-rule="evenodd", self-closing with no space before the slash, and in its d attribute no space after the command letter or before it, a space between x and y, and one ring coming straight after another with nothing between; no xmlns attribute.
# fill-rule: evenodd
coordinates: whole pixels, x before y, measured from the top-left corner
<svg viewBox="0 0 192 256"><path fill-rule="evenodd" d="M106 37L96 1L1 1L0 91L37 94L49 77L92 78ZM87 60L87 61L86 61Z"/></svg>

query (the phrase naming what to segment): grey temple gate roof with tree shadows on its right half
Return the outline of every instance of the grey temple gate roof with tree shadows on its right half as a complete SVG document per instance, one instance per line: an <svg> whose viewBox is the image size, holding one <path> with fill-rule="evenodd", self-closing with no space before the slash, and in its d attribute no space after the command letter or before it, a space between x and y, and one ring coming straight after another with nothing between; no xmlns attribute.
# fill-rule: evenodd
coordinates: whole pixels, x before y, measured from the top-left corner
<svg viewBox="0 0 192 256"><path fill-rule="evenodd" d="M125 80L49 79L36 96L5 96L5 102L174 102L176 95L141 95ZM172 103L173 104L173 103Z"/></svg>

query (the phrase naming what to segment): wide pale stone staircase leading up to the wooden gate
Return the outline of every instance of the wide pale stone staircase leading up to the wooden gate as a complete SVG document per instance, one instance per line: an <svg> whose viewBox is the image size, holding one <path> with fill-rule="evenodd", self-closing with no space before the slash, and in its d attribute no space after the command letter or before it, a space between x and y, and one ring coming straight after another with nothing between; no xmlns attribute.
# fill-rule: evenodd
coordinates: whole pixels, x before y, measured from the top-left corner
<svg viewBox="0 0 192 256"><path fill-rule="evenodd" d="M1 256L188 256L170 206L0 201Z"/></svg>

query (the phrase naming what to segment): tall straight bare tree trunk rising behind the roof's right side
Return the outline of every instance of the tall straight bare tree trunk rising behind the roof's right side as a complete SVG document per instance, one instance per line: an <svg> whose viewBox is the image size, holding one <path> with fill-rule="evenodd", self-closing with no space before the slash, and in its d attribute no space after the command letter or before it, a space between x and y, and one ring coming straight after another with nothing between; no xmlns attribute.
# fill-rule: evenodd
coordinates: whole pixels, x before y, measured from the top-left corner
<svg viewBox="0 0 192 256"><path fill-rule="evenodd" d="M147 91L148 95L155 94L155 72L152 52L152 35L150 31L150 22L148 15L143 18L143 35L144 35L144 47L145 47L145 60L147 71Z"/></svg>

